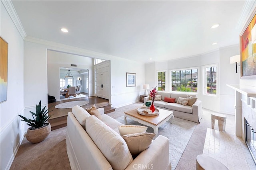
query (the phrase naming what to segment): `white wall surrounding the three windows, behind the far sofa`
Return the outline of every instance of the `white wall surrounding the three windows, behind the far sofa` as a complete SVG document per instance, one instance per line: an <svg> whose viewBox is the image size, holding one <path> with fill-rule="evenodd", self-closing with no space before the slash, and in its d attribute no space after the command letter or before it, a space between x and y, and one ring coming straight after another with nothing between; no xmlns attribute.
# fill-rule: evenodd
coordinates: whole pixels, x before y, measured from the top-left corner
<svg viewBox="0 0 256 170"><path fill-rule="evenodd" d="M235 72L234 64L230 64L229 58L239 54L239 45L220 48L219 50L196 55L184 59L163 61L145 64L145 81L151 86L156 86L156 71L166 70L166 91L170 91L170 70L182 68L198 68L198 99L202 100L202 106L216 112L234 114L234 92L226 84L237 84L239 74ZM218 66L218 95L208 96L203 94L202 67L209 64Z"/></svg>

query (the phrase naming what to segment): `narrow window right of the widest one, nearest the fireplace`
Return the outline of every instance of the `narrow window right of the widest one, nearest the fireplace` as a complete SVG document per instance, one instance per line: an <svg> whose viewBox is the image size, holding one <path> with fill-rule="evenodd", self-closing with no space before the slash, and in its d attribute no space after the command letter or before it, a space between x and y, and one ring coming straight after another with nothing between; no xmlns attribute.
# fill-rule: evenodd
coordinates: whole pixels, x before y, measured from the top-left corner
<svg viewBox="0 0 256 170"><path fill-rule="evenodd" d="M204 67L204 94L217 94L217 66Z"/></svg>

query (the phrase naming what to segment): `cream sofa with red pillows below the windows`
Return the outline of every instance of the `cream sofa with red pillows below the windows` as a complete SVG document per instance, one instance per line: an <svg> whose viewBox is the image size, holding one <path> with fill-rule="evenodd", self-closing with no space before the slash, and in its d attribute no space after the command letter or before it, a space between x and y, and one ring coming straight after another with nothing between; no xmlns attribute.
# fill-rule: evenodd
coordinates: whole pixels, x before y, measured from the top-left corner
<svg viewBox="0 0 256 170"><path fill-rule="evenodd" d="M202 101L196 100L196 102L192 106L188 106L188 105L184 106L182 104L176 103L179 97L181 98L187 98L187 96L196 97L196 95L176 94L176 93L168 93L168 92L157 92L157 95L161 95L161 101L154 100L154 106L159 107L161 109L173 111L174 117L200 123L200 120L202 119ZM175 102L174 103L165 102L164 97L175 98ZM149 96L144 98L144 104L148 101L152 102Z"/></svg>

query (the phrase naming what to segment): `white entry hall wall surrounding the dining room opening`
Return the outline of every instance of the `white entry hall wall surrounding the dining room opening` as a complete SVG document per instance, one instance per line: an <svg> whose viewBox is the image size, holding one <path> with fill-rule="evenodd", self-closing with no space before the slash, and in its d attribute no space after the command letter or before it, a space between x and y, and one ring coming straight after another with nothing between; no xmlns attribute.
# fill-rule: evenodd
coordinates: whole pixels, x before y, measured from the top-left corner
<svg viewBox="0 0 256 170"><path fill-rule="evenodd" d="M68 53L61 53L57 51L47 51L47 78L48 78L48 93L51 96L55 96L57 101L60 100L60 67L72 68L70 64L76 64L77 67L89 70L89 81L93 81L93 59L89 57L73 55ZM67 72L61 74L65 76ZM76 80L78 77L82 78L81 92L85 92L85 80L84 75L78 72L71 72L74 76L74 86L76 86ZM93 96L93 84L89 84L89 96Z"/></svg>

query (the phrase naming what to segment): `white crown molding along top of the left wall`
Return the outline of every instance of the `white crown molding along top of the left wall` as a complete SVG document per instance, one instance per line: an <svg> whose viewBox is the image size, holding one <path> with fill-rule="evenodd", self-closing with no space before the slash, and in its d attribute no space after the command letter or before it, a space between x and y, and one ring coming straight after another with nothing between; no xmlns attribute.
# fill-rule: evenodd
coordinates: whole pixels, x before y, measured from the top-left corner
<svg viewBox="0 0 256 170"><path fill-rule="evenodd" d="M18 32L20 33L20 36L24 40L27 35L26 35L26 32L20 22L20 19L14 9L12 2L10 0L1 0L1 2L2 2L4 8L6 9L7 13L9 14L10 18L12 19L12 22L16 26Z"/></svg>

